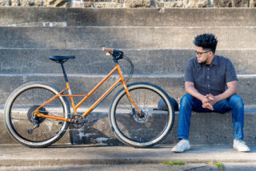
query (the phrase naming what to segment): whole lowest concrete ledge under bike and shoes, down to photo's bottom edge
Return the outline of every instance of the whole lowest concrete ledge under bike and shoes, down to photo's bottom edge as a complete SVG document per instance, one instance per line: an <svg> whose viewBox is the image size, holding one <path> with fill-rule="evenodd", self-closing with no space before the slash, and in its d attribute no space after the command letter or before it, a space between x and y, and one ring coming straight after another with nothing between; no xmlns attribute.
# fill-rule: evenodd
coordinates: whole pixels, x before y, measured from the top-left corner
<svg viewBox="0 0 256 171"><path fill-rule="evenodd" d="M239 153L232 145L192 145L186 153L172 153L170 150L173 147L173 144L169 144L138 149L103 144L53 145L44 149L28 149L21 145L0 145L0 169L219 171L225 168L228 171L254 171L256 167L255 145L250 145L250 153ZM176 164L179 161L184 165L166 165L166 161L176 161Z"/></svg>

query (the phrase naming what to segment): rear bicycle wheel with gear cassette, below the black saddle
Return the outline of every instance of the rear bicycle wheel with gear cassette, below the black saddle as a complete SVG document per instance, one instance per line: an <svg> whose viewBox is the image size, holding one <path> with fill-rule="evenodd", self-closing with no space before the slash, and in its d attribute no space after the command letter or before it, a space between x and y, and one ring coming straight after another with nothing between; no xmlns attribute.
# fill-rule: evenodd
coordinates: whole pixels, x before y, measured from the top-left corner
<svg viewBox="0 0 256 171"><path fill-rule="evenodd" d="M4 122L15 141L29 147L46 147L63 136L69 122L34 117L35 109L58 92L54 85L29 82L10 94L4 109ZM38 111L46 115L70 118L70 107L65 97L57 97Z"/></svg>

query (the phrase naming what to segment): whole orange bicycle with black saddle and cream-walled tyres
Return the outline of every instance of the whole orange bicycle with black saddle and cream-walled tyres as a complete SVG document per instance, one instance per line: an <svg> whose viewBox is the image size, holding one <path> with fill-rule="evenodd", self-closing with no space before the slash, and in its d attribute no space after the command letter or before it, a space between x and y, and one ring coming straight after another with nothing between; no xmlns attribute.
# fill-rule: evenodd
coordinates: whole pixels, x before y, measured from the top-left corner
<svg viewBox="0 0 256 171"><path fill-rule="evenodd" d="M118 85L122 85L109 110L110 126L115 135L126 145L134 147L150 147L161 142L174 124L174 105L170 97L157 85L147 82L127 85L118 60L124 58L130 62L130 59L121 50L102 50L113 58L115 67L86 95L74 95L70 89L63 64L70 58L75 58L74 56L50 56L52 61L62 66L66 89L59 90L46 82L29 82L15 89L4 109L6 129L11 137L28 147L51 145L66 133L69 125L79 129L90 122L86 116ZM130 65L133 66L131 62ZM85 113L79 114L78 107L116 71L118 80ZM130 77L132 74L133 67ZM83 98L75 105L74 97ZM67 98L70 98L70 102ZM162 109L158 106L160 101L164 106ZM70 112L70 104L73 113Z"/></svg>

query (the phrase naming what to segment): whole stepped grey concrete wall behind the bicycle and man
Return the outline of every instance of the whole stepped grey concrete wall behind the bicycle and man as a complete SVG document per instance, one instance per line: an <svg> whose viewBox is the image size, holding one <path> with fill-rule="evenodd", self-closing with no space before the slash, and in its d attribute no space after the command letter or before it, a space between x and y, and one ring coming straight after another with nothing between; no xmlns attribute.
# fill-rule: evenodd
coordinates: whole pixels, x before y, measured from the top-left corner
<svg viewBox="0 0 256 171"><path fill-rule="evenodd" d="M115 3L124 2L128 1ZM14 143L3 126L2 109L6 98L18 85L44 81L57 85L59 89L65 86L60 66L50 62L48 56L76 57L65 63L75 94L88 92L112 69L113 64L106 60L102 46L120 48L134 63L134 77L130 82L160 85L179 102L185 93L183 74L186 62L194 56L192 40L195 35L205 32L218 37L216 54L230 58L234 63L239 79L238 92L246 105L245 141L255 144L256 8L159 10L153 7L83 9L18 6L0 7L0 137L5 137L0 143ZM114 80L115 77L110 78L102 89L98 89L88 104ZM102 112L94 112L100 118L97 122L82 129L70 129L59 143L90 144L102 140L108 144L119 143L107 118L108 105L114 93L98 107ZM177 125L178 113L174 128L163 143L176 141ZM192 144L230 144L232 132L230 113L193 113Z"/></svg>

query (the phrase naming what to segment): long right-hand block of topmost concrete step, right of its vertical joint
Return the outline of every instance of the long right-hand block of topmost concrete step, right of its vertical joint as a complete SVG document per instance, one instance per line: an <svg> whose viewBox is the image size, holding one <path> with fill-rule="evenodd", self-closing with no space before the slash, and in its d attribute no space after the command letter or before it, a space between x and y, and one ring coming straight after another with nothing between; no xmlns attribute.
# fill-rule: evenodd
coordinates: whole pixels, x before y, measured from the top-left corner
<svg viewBox="0 0 256 171"><path fill-rule="evenodd" d="M70 9L67 23L68 26L255 26L254 14L255 9L221 8Z"/></svg>

